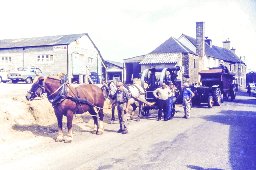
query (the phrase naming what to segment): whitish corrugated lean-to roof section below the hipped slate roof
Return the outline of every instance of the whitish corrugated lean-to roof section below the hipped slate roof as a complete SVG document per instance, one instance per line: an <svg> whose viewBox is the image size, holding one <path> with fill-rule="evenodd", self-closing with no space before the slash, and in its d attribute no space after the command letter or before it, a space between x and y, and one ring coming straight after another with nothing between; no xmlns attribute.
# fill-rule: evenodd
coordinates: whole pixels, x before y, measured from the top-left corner
<svg viewBox="0 0 256 170"><path fill-rule="evenodd" d="M140 64L177 63L182 53L149 53Z"/></svg>

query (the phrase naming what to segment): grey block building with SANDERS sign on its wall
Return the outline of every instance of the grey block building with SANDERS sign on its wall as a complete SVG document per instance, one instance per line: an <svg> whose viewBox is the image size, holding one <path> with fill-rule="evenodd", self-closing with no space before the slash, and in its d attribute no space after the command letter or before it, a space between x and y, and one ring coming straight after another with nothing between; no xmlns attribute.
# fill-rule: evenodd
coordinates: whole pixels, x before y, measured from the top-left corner
<svg viewBox="0 0 256 170"><path fill-rule="evenodd" d="M106 74L101 53L87 33L0 40L0 66L37 66L43 73L63 72L69 82L79 83L88 83L92 72L100 78Z"/></svg>

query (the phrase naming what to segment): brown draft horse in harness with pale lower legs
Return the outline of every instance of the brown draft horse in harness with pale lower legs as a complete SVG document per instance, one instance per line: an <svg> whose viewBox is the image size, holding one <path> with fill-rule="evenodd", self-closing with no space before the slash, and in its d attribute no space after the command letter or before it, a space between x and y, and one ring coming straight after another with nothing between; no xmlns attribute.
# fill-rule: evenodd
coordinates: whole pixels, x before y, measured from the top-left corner
<svg viewBox="0 0 256 170"><path fill-rule="evenodd" d="M67 93L62 93L62 95L58 97L60 91L63 90L61 86L66 86ZM47 93L48 100L52 104L58 120L59 133L55 142L62 142L64 140L62 132L63 115L67 117L67 126L69 130L68 137L64 142L69 143L72 141L73 135L71 128L74 113L82 114L89 111L89 113L93 115L92 118L94 120L94 129L92 133L97 135L103 134L104 114L102 107L104 105L104 96L100 87L89 84L80 85L75 88L69 85L69 83L64 83L61 85L61 79L59 77L43 77L40 75L34 79L32 87L28 91L26 98L27 100L31 101L35 97L41 97L41 95L44 93ZM81 99L82 101L78 99ZM98 124L97 113L95 112L94 107L96 107L98 110L100 125Z"/></svg>

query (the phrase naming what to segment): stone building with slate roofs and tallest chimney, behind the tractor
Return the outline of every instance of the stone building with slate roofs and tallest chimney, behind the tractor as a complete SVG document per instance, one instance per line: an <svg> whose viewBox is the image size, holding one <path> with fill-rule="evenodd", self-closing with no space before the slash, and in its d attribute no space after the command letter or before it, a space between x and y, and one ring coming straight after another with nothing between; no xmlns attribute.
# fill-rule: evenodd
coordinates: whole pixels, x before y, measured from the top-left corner
<svg viewBox="0 0 256 170"><path fill-rule="evenodd" d="M240 85L240 89L245 89L246 65L244 61L235 54L235 49L230 49L230 41L224 41L223 47L212 45L212 40L205 37L204 22L196 23L196 38L185 34L178 39L171 37L149 54L125 59L126 78L130 78L131 73L125 68L135 60L136 63L139 62L141 72L147 68L180 66L184 68L184 72L180 71L177 78L189 85L200 83L198 73L201 70L224 65L230 72L236 73L235 83Z"/></svg>

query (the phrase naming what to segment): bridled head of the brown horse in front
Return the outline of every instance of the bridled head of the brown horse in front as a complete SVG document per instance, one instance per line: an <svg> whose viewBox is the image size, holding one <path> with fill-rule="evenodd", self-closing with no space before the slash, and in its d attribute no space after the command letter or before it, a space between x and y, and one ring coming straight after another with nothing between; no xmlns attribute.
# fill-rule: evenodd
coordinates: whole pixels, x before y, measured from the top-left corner
<svg viewBox="0 0 256 170"><path fill-rule="evenodd" d="M45 92L45 78L42 75L37 75L29 91L27 91L26 98L28 101L34 100L35 97L41 97Z"/></svg>

